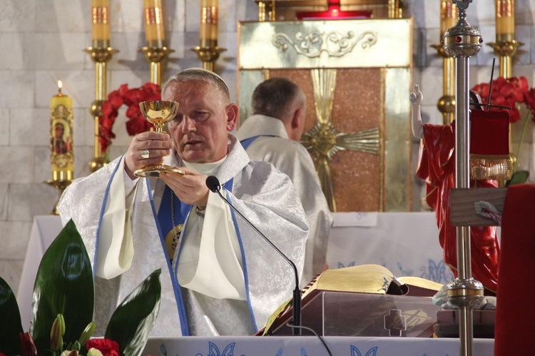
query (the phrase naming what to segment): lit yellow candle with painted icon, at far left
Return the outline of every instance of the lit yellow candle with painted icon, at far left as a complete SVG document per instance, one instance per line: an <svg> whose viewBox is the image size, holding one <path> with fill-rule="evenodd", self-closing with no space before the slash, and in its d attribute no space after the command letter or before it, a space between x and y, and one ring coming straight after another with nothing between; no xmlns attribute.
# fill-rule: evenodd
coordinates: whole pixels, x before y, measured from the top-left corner
<svg viewBox="0 0 535 356"><path fill-rule="evenodd" d="M61 93L63 84L58 81L58 93L50 101L50 151L52 179L72 180L73 153L73 100Z"/></svg>

